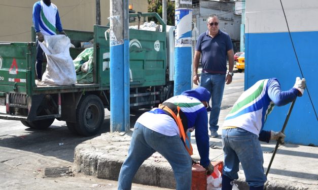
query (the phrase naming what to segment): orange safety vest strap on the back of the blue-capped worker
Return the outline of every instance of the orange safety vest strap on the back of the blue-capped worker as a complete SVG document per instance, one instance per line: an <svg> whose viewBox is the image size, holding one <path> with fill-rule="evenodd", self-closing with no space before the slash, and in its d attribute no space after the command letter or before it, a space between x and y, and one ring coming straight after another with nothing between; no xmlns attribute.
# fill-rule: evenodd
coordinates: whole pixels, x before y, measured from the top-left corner
<svg viewBox="0 0 318 190"><path fill-rule="evenodd" d="M190 141L190 138L189 136L187 135L187 133L185 132L184 130L184 127L183 127L183 124L182 124L182 121L181 121L181 117L180 117L180 107L179 106L176 106L176 109L178 110L178 114L175 115L175 113L168 107L168 106L165 106L165 105L162 105L160 104L158 106L158 108L162 109L162 110L165 110L167 111L169 114L171 114L171 116L173 117L176 125L178 125L178 128L179 128L179 131L180 131L180 138L182 138L183 142L184 142L184 145L189 153L189 155L193 155L193 149L192 149L192 146L191 146L191 141ZM189 142L189 147L188 145L186 144L186 139L188 140Z"/></svg>

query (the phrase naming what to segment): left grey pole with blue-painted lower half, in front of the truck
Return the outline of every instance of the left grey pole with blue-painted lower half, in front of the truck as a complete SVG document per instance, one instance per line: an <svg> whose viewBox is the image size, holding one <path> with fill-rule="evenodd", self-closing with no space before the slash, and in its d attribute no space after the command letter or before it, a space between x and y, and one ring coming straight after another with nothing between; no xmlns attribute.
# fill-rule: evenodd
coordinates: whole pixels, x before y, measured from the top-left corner
<svg viewBox="0 0 318 190"><path fill-rule="evenodd" d="M111 132L128 131L129 14L128 0L110 1Z"/></svg>

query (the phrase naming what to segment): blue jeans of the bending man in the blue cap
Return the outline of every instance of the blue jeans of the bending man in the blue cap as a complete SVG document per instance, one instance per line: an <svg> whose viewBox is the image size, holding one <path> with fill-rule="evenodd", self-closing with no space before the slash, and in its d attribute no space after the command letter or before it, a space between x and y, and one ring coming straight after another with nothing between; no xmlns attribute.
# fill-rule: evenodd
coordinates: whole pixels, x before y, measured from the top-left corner
<svg viewBox="0 0 318 190"><path fill-rule="evenodd" d="M138 168L155 152L160 153L171 165L176 189L190 190L192 160L179 135L166 136L137 122L132 133L128 157L120 169L118 189L131 189L132 178Z"/></svg>

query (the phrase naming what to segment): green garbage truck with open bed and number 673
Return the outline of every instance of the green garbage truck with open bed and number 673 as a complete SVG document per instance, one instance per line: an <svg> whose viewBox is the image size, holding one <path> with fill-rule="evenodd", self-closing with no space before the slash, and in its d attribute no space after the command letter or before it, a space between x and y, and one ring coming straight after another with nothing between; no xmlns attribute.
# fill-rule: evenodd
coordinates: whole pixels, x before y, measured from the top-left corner
<svg viewBox="0 0 318 190"><path fill-rule="evenodd" d="M139 15L140 16L140 15ZM174 27L167 26L157 13L162 31L129 29L130 107L150 108L173 95ZM137 14L130 14L137 17ZM74 133L97 133L110 109L109 26L94 25L94 31L65 30L76 48L75 59L93 39L91 83L68 86L36 84L36 35L32 42L0 42L0 119L20 120L34 129L48 128L55 119L66 121ZM105 38L107 35L107 38Z"/></svg>

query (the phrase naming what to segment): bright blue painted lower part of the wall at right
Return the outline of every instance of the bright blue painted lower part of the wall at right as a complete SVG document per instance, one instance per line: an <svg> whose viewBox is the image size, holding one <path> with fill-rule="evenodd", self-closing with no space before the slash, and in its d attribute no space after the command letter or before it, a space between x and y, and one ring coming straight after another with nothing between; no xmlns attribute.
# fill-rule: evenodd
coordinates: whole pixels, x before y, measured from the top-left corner
<svg viewBox="0 0 318 190"><path fill-rule="evenodd" d="M306 79L310 97L318 112L318 32L292 32L296 53ZM276 77L282 90L293 87L301 77L288 32L245 33L245 89L256 81ZM275 107L264 129L281 130L290 104ZM308 91L298 97L285 129L286 141L318 146L318 121L310 103Z"/></svg>

